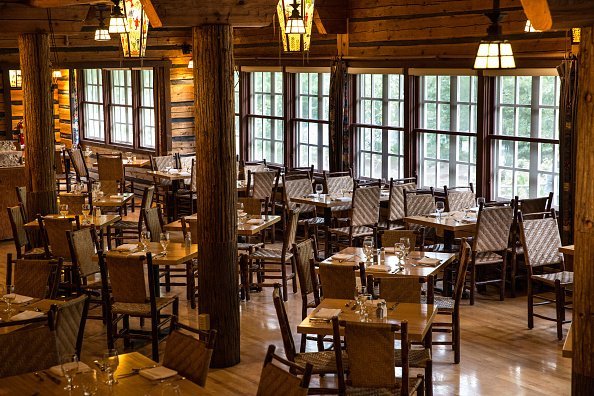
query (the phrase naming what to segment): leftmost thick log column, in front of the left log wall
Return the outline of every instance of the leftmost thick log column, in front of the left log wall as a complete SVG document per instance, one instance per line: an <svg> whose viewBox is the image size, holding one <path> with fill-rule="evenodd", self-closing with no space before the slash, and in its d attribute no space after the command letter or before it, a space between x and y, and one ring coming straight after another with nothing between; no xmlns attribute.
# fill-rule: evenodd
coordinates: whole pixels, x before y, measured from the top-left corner
<svg viewBox="0 0 594 396"><path fill-rule="evenodd" d="M57 213L49 36L19 35L30 215Z"/></svg>

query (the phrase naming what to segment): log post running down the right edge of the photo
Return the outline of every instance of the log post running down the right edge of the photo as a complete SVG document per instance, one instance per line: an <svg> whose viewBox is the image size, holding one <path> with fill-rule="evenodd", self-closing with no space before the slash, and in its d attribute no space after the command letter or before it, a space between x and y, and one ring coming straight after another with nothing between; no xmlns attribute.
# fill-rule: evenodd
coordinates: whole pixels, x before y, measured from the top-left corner
<svg viewBox="0 0 594 396"><path fill-rule="evenodd" d="M573 395L594 389L594 35L582 28L578 77L575 256L573 289Z"/></svg>

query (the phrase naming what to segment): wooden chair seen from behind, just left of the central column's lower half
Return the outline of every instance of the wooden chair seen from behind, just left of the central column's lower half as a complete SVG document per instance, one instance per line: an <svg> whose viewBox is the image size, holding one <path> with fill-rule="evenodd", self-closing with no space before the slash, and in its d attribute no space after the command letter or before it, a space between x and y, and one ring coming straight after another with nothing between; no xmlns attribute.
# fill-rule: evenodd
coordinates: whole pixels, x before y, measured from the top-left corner
<svg viewBox="0 0 594 396"><path fill-rule="evenodd" d="M108 252L103 257L98 252L99 267L101 268L102 295L105 300L107 314L107 346L113 349L117 339L124 339L124 346L130 346L131 338L150 339L152 344L152 359L159 361L159 341L162 330L170 325L172 315L179 314L177 296L155 296L155 279L151 253L145 256L130 256L118 252ZM148 273L148 285L145 284L145 268ZM111 284L111 293L107 288ZM148 290L147 290L148 289ZM148 296L147 296L148 293ZM172 314L162 311L170 307ZM130 317L150 319L151 331L130 328ZM122 329L118 330L118 323L122 322Z"/></svg>

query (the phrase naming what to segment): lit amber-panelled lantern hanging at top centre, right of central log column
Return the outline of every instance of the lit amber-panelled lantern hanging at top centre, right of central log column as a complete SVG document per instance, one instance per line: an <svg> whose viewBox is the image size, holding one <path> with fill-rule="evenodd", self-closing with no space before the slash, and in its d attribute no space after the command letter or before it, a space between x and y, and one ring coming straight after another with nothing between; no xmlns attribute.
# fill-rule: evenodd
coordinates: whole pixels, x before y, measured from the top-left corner
<svg viewBox="0 0 594 396"><path fill-rule="evenodd" d="M309 51L314 0L279 0L276 11L285 52Z"/></svg>

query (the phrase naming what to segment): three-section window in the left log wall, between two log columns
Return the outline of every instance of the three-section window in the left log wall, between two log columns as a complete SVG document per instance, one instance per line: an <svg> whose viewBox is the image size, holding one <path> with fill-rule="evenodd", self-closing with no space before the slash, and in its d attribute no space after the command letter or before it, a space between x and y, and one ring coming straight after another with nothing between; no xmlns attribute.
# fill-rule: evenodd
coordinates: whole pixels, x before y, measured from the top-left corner
<svg viewBox="0 0 594 396"><path fill-rule="evenodd" d="M80 74L83 138L104 144L154 149L153 69L85 69Z"/></svg>

